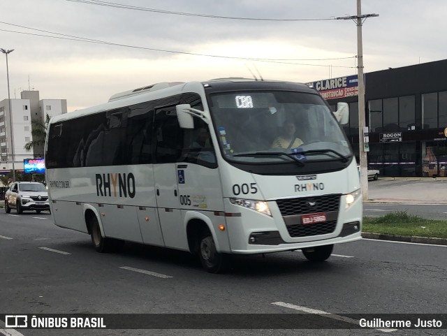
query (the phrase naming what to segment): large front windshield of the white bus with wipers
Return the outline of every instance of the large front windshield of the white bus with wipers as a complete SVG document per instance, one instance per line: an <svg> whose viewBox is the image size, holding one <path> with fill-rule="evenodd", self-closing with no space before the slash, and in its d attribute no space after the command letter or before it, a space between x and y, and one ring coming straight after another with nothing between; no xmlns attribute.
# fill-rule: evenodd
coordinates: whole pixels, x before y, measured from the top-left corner
<svg viewBox="0 0 447 336"><path fill-rule="evenodd" d="M348 161L352 156L323 98L302 92L213 94L210 112L227 159L248 163Z"/></svg>

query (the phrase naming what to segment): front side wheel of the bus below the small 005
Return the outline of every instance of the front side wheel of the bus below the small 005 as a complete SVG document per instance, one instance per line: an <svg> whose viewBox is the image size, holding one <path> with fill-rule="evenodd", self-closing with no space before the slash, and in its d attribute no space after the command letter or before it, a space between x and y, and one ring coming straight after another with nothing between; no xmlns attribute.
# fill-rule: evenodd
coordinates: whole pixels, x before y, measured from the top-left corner
<svg viewBox="0 0 447 336"><path fill-rule="evenodd" d="M208 230L205 230L200 236L198 256L207 272L221 273L228 270L230 256L217 251L212 234Z"/></svg>

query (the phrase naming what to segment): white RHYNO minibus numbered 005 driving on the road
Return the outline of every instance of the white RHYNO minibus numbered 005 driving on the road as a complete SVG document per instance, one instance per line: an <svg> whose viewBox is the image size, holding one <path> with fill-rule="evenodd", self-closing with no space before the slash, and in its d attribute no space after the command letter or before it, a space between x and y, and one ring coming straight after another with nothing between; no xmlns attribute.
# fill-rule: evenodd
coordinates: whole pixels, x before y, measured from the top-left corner
<svg viewBox="0 0 447 336"><path fill-rule="evenodd" d="M293 82L228 78L159 83L53 117L45 143L54 224L198 254L300 249L324 261L360 240L357 163L337 111Z"/></svg>

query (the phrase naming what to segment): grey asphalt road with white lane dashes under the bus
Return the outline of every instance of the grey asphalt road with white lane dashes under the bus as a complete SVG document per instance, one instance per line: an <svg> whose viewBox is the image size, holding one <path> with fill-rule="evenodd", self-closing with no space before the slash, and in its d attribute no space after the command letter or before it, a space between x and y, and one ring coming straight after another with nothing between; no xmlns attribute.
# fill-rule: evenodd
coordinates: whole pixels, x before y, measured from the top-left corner
<svg viewBox="0 0 447 336"><path fill-rule="evenodd" d="M1 212L0 313L307 312L308 316L318 316L330 312L332 317L327 319L333 323L337 322L334 317L344 314L361 314L365 318L374 316L367 314L445 314L446 252L447 247L361 240L337 245L325 263L309 263L300 251L265 257L238 256L228 274L212 275L200 268L196 258L184 252L126 244L120 253L98 254L88 235L54 226L48 214L17 216ZM445 335L445 332L446 329L430 329L390 333ZM377 328L6 331L0 322L0 335L13 336L349 333L386 335Z"/></svg>

